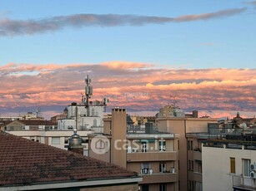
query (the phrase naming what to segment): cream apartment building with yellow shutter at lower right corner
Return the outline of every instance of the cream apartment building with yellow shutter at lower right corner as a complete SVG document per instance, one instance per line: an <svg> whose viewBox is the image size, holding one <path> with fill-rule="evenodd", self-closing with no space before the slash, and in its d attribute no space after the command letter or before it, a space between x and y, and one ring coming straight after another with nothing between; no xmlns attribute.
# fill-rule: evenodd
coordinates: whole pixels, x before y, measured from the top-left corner
<svg viewBox="0 0 256 191"><path fill-rule="evenodd" d="M241 132L203 143L203 190L256 190L255 130Z"/></svg>

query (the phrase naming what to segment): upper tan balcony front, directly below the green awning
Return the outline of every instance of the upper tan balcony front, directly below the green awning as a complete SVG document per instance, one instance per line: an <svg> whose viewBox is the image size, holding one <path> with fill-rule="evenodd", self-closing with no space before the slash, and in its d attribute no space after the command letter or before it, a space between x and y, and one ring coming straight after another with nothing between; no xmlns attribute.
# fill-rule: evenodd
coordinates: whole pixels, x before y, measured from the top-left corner
<svg viewBox="0 0 256 191"><path fill-rule="evenodd" d="M150 161L167 161L178 160L176 151L160 151L160 152L136 152L128 153L128 162L150 162Z"/></svg>

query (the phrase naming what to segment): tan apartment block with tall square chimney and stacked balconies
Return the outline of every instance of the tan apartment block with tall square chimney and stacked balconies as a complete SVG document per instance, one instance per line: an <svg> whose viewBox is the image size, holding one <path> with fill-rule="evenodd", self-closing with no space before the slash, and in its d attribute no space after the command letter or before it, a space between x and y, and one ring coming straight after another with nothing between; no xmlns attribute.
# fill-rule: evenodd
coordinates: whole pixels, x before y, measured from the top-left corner
<svg viewBox="0 0 256 191"><path fill-rule="evenodd" d="M125 109L104 119L104 134L89 135L89 156L137 172L140 190L178 190L178 135L145 129L128 130Z"/></svg>

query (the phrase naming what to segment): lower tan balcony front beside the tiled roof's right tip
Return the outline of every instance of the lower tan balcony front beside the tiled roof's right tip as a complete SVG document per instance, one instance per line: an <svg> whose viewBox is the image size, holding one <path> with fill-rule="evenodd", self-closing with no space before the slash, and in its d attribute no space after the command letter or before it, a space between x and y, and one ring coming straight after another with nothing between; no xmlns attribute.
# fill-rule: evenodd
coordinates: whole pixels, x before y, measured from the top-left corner
<svg viewBox="0 0 256 191"><path fill-rule="evenodd" d="M143 181L139 184L162 184L178 182L177 173L140 174Z"/></svg>

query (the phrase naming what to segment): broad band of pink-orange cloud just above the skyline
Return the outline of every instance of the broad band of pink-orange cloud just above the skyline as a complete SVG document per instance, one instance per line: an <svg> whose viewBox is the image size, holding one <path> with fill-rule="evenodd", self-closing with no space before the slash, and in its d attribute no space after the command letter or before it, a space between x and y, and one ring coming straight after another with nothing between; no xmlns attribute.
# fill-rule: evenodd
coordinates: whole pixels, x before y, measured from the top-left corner
<svg viewBox="0 0 256 191"><path fill-rule="evenodd" d="M32 107L38 100L48 106L79 102L87 75L92 78L93 99L106 96L109 107L157 111L171 103L170 96L175 94L184 110L256 111L255 69L187 70L128 61L0 66L0 110Z"/></svg>

